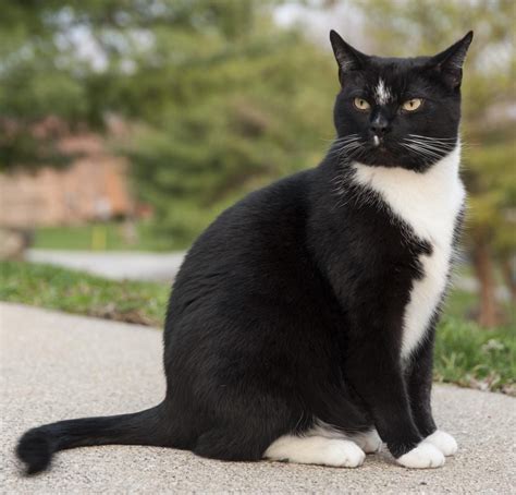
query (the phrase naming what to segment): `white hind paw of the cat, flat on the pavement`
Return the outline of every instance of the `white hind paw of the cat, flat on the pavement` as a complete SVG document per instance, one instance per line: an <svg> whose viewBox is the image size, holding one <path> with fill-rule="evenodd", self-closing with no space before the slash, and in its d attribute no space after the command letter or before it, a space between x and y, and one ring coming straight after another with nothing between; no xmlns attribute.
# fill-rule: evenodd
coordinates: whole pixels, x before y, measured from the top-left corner
<svg viewBox="0 0 516 495"><path fill-rule="evenodd" d="M346 439L284 435L269 446L263 457L300 464L357 468L364 462L366 454Z"/></svg>

